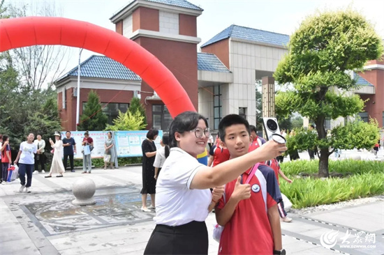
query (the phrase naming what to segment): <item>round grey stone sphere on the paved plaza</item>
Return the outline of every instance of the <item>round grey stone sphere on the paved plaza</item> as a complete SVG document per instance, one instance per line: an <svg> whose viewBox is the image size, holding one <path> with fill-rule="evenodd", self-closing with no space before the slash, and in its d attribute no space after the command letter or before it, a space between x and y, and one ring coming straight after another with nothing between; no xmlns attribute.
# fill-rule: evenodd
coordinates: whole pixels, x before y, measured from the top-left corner
<svg viewBox="0 0 384 255"><path fill-rule="evenodd" d="M96 203L94 194L96 192L96 185L93 180L89 178L80 178L73 183L73 195L75 200L72 203L76 206L87 206Z"/></svg>

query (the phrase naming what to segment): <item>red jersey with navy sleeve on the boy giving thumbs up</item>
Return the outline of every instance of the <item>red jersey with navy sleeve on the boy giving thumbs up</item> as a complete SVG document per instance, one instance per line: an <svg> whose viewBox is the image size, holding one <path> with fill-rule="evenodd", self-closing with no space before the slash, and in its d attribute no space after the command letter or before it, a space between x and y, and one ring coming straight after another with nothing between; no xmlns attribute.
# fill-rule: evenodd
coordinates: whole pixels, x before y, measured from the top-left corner
<svg viewBox="0 0 384 255"><path fill-rule="evenodd" d="M243 173L243 180L248 178L250 171ZM232 180L226 185L226 201L230 199L235 183L236 180ZM282 200L274 171L267 165L259 165L249 184L251 198L239 201L224 226L219 254L273 254L274 241L267 210ZM224 206L222 197L217 208Z"/></svg>

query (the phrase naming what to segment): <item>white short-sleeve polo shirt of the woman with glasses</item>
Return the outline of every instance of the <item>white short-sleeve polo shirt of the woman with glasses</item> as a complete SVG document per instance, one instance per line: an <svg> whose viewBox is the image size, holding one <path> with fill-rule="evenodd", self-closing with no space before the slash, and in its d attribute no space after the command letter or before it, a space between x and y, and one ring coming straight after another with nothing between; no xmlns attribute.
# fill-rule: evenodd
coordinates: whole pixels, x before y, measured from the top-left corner
<svg viewBox="0 0 384 255"><path fill-rule="evenodd" d="M156 185L156 224L179 226L204 222L212 201L210 190L191 190L195 174L204 167L181 148L171 148Z"/></svg>

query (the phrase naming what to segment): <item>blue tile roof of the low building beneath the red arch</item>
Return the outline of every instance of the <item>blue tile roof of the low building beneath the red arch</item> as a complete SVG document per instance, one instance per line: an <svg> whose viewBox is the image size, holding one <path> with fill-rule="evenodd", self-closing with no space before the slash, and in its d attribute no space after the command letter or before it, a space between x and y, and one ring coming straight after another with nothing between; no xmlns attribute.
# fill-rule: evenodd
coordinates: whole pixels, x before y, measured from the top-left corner
<svg viewBox="0 0 384 255"><path fill-rule="evenodd" d="M140 76L136 75L135 72L107 56L92 55L86 61L80 63L80 75L81 77L91 78L141 81ZM77 76L77 66L66 75L57 79L56 82L68 76Z"/></svg>

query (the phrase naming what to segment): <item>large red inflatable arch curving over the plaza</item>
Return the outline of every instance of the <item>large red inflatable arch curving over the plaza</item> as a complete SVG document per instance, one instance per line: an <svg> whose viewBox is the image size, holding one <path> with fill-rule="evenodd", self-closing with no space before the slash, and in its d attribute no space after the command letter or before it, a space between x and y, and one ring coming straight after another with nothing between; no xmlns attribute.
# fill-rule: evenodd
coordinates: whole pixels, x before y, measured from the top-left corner
<svg viewBox="0 0 384 255"><path fill-rule="evenodd" d="M175 118L195 107L176 77L133 40L89 22L63 17L0 20L0 52L31 45L66 45L89 49L122 63L151 86Z"/></svg>

